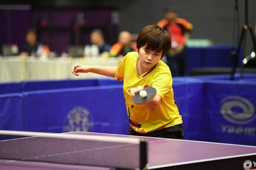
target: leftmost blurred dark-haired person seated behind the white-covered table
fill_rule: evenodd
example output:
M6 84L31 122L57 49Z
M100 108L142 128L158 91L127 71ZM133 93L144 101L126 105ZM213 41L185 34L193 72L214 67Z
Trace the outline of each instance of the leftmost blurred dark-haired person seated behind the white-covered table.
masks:
M47 49L48 52L50 51ZM20 53L20 56L22 57L28 57L28 56L40 56L40 53L43 53L44 46L37 41L37 35L35 29L28 29L26 33L26 44L24 45L22 52Z

